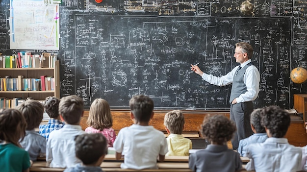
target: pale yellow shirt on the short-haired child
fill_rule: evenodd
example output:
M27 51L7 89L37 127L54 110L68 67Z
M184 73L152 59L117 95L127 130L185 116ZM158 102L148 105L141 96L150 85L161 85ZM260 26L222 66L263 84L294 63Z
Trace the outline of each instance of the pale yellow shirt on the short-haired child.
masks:
M188 156L189 149L192 149L191 140L182 137L181 134L170 134L166 141L168 147L166 156Z

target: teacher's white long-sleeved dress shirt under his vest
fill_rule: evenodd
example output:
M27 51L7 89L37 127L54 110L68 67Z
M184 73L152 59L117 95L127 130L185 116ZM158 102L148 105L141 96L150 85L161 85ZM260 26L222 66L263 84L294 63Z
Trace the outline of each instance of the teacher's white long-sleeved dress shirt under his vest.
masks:
M252 62L251 59L247 60L246 62L241 64L241 67L243 68L245 65ZM237 69L240 65L236 66L232 69L228 74L217 77L213 76L212 74L203 74L202 78L213 85L218 86L225 86L232 83L233 76L236 73ZM236 98L237 103L242 103L246 101L253 101L257 98L259 93L259 83L260 83L260 74L256 66L251 65L248 67L245 71L243 81L246 85L247 92L244 94L241 94L238 98Z

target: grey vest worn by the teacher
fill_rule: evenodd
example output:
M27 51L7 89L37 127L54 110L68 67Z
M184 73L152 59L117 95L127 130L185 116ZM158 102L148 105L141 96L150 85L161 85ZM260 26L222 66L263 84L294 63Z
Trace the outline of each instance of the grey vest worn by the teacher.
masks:
M247 92L246 85L244 84L243 78L244 78L246 69L252 65L254 65L252 62L245 65L239 71L237 70L236 74L233 76L230 99L229 99L230 103L232 102L234 98L238 98L241 94Z

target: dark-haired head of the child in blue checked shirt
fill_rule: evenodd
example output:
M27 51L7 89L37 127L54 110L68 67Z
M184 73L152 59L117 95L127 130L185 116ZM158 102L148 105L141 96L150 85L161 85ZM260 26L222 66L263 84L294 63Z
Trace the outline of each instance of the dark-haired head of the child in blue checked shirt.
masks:
M50 118L57 119L59 117L59 103L60 99L50 96L44 101L44 108Z

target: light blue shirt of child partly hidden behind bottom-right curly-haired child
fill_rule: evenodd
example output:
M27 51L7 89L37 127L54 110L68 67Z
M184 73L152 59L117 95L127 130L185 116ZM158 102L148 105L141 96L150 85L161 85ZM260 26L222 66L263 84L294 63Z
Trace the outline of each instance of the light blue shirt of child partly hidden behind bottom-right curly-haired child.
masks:
M240 140L238 153L240 153L241 156L246 156L246 147L253 143L263 143L267 138L268 136L266 133L255 133L248 138Z

